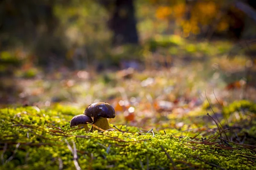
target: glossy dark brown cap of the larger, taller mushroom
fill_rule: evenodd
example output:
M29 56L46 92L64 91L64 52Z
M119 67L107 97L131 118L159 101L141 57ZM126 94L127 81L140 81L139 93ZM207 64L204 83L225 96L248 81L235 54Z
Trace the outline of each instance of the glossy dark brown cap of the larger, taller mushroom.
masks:
M106 102L90 104L85 109L84 114L94 118L104 117L112 119L116 117L114 108Z

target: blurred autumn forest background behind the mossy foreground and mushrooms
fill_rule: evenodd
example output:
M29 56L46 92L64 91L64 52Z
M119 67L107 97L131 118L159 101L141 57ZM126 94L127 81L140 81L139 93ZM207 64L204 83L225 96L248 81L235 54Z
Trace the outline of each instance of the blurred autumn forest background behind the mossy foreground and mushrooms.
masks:
M255 64L255 0L0 1L1 107L105 101L134 121L205 93L255 102Z

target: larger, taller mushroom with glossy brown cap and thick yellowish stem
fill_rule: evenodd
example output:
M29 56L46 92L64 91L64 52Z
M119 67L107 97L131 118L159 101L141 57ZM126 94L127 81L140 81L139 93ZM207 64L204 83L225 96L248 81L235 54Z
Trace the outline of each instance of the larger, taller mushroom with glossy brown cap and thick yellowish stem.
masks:
M103 130L109 129L108 119L112 119L116 116L114 108L106 102L90 104L85 109L84 114L93 117L93 124ZM93 130L99 129L93 127Z

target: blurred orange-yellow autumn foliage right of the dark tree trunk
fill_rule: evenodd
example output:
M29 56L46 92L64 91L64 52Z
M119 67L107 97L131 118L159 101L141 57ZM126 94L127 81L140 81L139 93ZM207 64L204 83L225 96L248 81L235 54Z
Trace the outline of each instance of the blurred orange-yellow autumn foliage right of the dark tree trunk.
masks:
M199 34L201 26L216 21L219 10L220 4L214 1L200 1L193 5L175 1L170 6L158 7L155 16L160 20L175 19L175 23L182 27L183 35L188 37L191 33ZM229 27L229 22L224 17L216 24L216 31L224 31Z

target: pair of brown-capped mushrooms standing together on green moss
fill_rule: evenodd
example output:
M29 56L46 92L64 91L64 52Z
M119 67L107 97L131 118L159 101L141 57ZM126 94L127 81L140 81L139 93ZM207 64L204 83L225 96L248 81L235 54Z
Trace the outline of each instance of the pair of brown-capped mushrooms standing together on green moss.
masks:
M77 126L84 127L86 131L89 131L87 122L102 128L103 130L109 129L108 119L114 118L114 108L106 102L93 103L87 106L84 114L74 116L70 121L70 127ZM93 119L92 119L93 118ZM93 130L99 130L93 127Z

